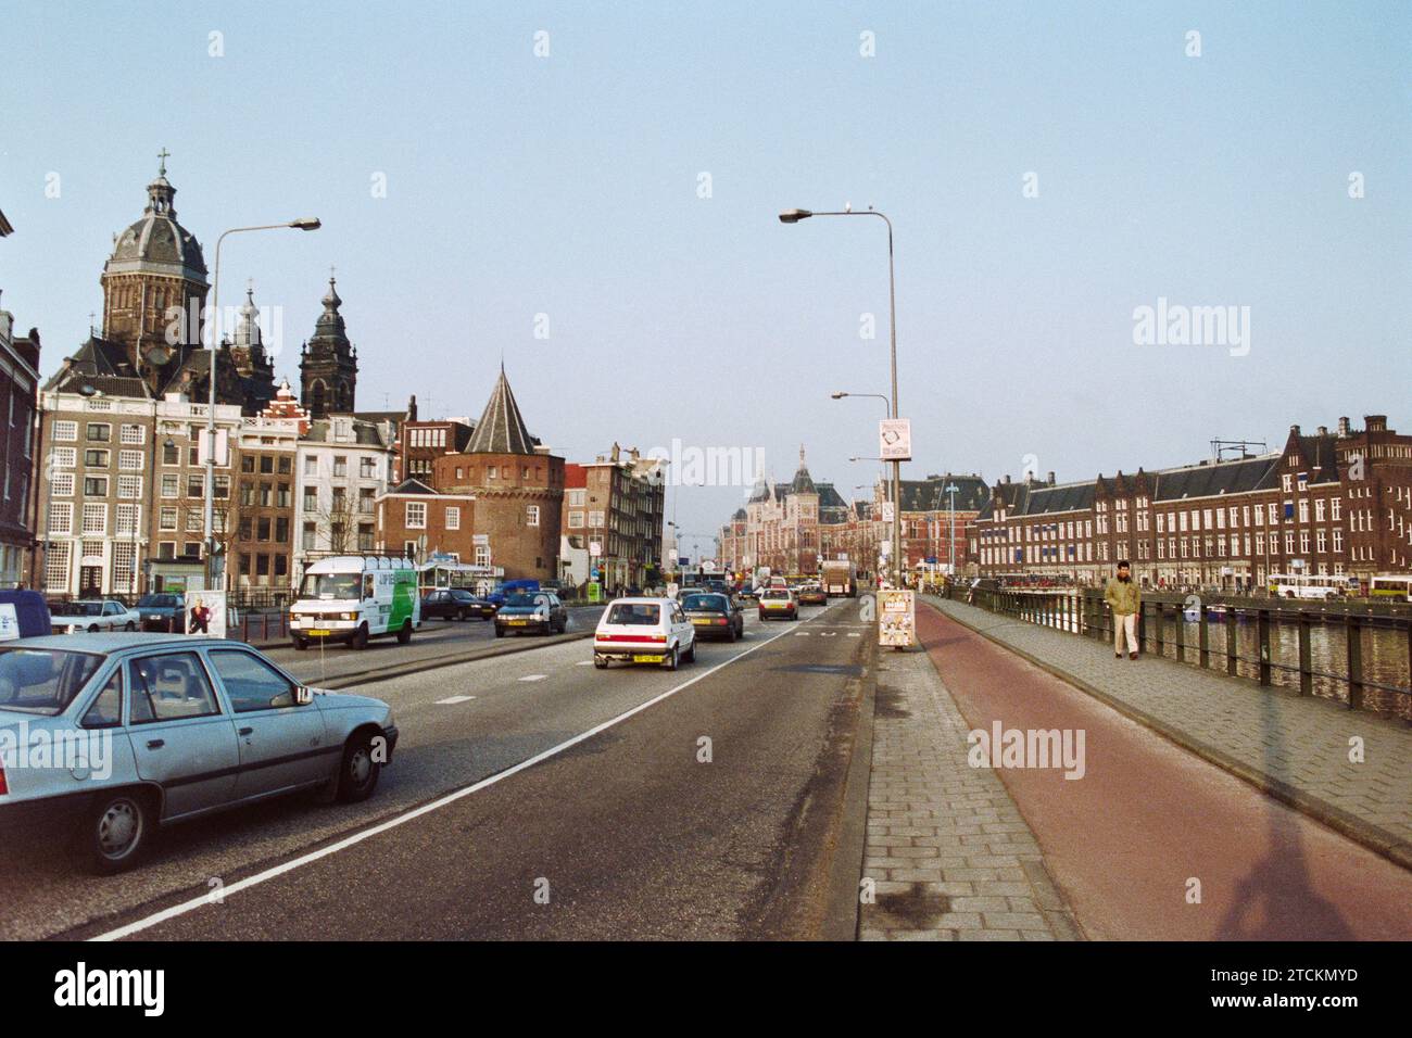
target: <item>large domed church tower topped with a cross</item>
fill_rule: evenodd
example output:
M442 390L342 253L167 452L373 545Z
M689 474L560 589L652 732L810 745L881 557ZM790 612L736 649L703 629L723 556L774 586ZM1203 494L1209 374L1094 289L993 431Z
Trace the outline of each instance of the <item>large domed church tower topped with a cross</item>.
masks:
M140 220L113 236L103 264L103 339L119 345L152 393L201 346L206 260L195 236L176 223L176 188L167 179L164 148L147 185Z

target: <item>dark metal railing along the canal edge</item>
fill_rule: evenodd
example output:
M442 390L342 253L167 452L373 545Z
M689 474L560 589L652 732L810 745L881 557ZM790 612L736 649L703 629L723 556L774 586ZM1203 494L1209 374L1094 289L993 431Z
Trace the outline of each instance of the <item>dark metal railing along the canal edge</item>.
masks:
M1113 643L1113 612L1099 587L970 589L952 585L945 597L970 602L991 613L1010 616L1041 627L1067 631L1080 637ZM1213 613L1217 616L1213 617ZM1196 637L1190 637L1195 624ZM1255 655L1241 652L1241 626L1254 626ZM1278 624L1289 624L1298 636L1298 661L1281 662L1271 651L1271 633ZM1343 634L1346 669L1339 674L1315 665L1315 630L1337 630ZM1370 675L1364 661L1364 634L1377 631L1380 637L1401 645L1396 675L1399 682L1388 682ZM1247 637L1247 641L1251 638ZM1368 692L1381 692L1372 709L1412 719L1412 613L1382 603L1360 602L1300 602L1268 597L1179 595L1172 592L1144 592L1138 612L1138 644L1144 651L1168 655L1179 662L1190 662L1206 669L1224 669L1227 675L1241 675L1241 664L1260 685L1288 685L1302 696L1315 695L1317 679L1339 689L1336 695L1353 710L1370 709ZM1275 681L1275 675L1288 676ZM1384 675L1385 676L1385 675ZM1381 709L1389 705L1391 709Z

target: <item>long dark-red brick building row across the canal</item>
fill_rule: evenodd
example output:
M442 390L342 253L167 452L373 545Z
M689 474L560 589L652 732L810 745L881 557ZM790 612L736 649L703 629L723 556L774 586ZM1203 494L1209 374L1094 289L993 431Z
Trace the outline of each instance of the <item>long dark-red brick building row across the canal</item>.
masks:
M974 523L984 576L1100 583L1118 559L1155 587L1262 587L1276 573L1405 572L1412 548L1412 436L1368 415L1354 432L1305 435L1282 451L1083 483L1007 480Z

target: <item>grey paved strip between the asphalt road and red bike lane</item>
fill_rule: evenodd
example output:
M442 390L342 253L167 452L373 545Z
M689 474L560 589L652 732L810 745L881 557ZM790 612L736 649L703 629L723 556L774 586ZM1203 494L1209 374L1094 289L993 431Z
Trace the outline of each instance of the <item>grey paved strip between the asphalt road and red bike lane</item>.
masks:
M970 726L926 652L878 657L863 941L1077 941L1000 778L966 761Z

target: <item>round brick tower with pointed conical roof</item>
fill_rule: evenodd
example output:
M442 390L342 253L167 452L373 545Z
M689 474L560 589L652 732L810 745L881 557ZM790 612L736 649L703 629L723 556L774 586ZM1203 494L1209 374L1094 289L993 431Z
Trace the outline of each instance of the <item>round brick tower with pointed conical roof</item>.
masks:
M466 449L432 462L435 486L476 499L474 532L504 576L559 576L563 459L537 446L504 367Z

